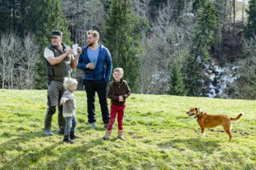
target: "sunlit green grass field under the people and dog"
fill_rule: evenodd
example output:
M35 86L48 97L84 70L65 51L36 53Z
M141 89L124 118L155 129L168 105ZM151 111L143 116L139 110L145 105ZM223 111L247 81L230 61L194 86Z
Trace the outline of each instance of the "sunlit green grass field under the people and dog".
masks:
M167 95L131 94L124 118L125 141L102 140L104 129L96 100L98 129L87 123L86 94L77 100L75 144L63 136L44 137L46 91L0 90L0 169L256 169L256 102ZM212 114L236 117L233 139L222 127L200 128L186 111L191 105ZM57 132L57 114L53 119Z

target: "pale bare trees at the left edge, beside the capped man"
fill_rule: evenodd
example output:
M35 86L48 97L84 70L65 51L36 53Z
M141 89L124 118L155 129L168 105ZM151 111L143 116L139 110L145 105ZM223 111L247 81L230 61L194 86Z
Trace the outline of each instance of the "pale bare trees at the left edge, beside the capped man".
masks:
M14 32L6 32L1 35L0 48L2 88L34 88L38 60L35 38L28 34L22 44Z

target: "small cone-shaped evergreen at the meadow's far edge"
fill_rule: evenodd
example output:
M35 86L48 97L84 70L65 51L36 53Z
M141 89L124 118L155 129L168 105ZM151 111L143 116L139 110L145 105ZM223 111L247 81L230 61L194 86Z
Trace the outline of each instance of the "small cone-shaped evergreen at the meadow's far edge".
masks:
M172 63L171 78L170 78L170 90L168 94L184 96L188 94L183 84L183 75L181 72L180 64L177 60Z

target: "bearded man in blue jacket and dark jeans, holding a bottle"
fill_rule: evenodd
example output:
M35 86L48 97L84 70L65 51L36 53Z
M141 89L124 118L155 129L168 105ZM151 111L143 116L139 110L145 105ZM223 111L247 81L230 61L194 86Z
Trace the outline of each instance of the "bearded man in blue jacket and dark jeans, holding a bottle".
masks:
M84 87L87 94L88 122L96 128L95 93L99 96L104 127L108 127L109 111L107 86L112 71L108 48L98 44L98 31L87 31L87 46L82 48L77 67L84 70ZM106 65L106 66L105 66Z

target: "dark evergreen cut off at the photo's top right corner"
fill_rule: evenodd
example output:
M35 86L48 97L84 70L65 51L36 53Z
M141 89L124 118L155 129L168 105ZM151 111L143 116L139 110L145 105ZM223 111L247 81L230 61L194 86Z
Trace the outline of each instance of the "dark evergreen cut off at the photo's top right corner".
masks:
M247 26L245 28L245 36L247 38L256 35L256 0L249 1L249 7L247 9Z

